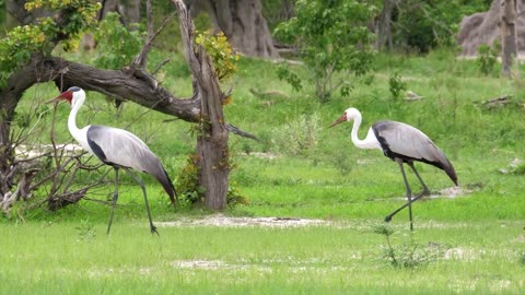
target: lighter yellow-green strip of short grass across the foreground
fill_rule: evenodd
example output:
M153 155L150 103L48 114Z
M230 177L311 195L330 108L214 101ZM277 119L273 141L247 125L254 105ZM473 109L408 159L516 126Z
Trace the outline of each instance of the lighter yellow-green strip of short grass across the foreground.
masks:
M162 227L131 223L110 236L74 222L1 225L3 294L416 294L518 293L518 223L422 224L418 239L448 247L416 269L382 258L383 238L362 222L303 228ZM404 233L402 231L400 233ZM31 243L27 237L31 237ZM490 237L490 238L489 238ZM395 234L394 243L406 239ZM232 243L234 241L234 243ZM13 278L24 278L23 284Z

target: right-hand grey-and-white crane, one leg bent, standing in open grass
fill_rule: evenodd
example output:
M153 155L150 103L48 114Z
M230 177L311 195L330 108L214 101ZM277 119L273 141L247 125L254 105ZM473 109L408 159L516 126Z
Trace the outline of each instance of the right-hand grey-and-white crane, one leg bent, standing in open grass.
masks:
M430 190L424 184L418 170L413 166L413 162L423 162L433 165L440 169L443 169L446 175L457 186L457 176L452 163L446 158L445 154L432 142L427 134L419 129L409 125L396 121L378 121L375 122L370 129L366 138L360 140L358 138L358 130L361 126L361 113L357 108L348 108L345 114L330 125L330 128L343 122L353 120L353 127L351 132L351 139L353 144L359 149L378 149L385 156L392 158L399 165L402 174L402 180L407 189L408 202L385 217L385 222L389 222L392 217L399 211L408 206L408 214L410 219L410 229L413 229L412 224L412 202L419 198L429 194ZM410 191L410 186L407 181L405 168L402 164L406 163L418 177L419 182L423 187L421 193L417 194L413 199Z

